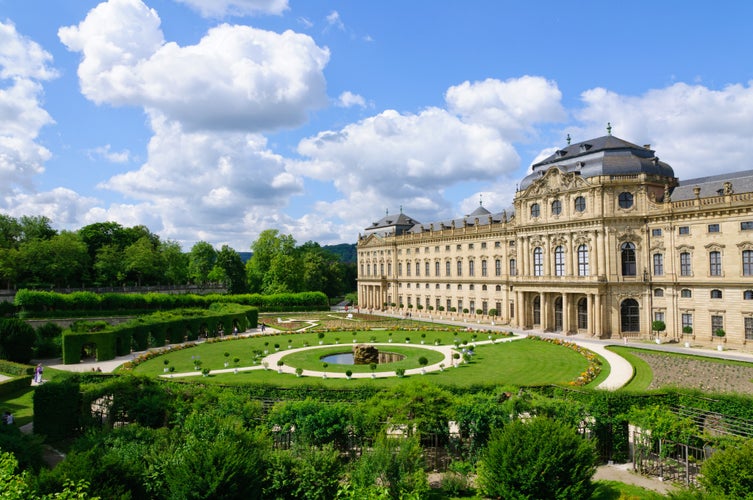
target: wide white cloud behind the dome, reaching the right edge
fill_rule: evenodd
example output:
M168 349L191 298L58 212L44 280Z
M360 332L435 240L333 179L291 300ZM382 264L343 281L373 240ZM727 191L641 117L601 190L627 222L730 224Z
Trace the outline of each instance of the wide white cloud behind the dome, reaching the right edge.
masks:
M751 83L721 90L676 83L640 96L595 88L581 97L585 107L577 117L584 126L574 129L573 140L605 135L611 122L613 135L651 144L681 180L751 168Z

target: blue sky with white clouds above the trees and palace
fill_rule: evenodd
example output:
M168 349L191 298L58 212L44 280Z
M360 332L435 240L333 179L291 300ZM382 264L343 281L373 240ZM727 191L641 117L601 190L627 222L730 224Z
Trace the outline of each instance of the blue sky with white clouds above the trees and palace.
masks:
M0 0L0 213L188 251L509 208L612 134L753 169L753 2Z

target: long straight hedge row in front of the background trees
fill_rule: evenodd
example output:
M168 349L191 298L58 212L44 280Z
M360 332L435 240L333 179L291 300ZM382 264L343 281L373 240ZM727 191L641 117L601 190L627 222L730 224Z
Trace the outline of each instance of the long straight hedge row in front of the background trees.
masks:
M327 296L321 292L280 293L275 295L195 295L169 293L105 293L74 292L70 294L35 290L19 290L16 308L26 317L49 316L51 312L86 311L155 311L179 308L207 308L215 303L235 303L257 307L262 311L316 311L329 308Z

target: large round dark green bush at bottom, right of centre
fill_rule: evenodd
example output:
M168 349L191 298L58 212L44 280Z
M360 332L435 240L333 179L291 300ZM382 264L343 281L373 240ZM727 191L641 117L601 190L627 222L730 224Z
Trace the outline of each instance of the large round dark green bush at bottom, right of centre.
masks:
M590 498L596 448L573 427L545 417L496 431L482 454L478 485L493 498Z

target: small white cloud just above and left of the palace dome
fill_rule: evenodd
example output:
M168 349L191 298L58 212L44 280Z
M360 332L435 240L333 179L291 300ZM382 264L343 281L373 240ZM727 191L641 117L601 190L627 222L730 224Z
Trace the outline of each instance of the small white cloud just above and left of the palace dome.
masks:
M466 81L450 87L445 99L465 121L494 127L508 140L535 136L536 124L567 117L557 84L537 76Z

